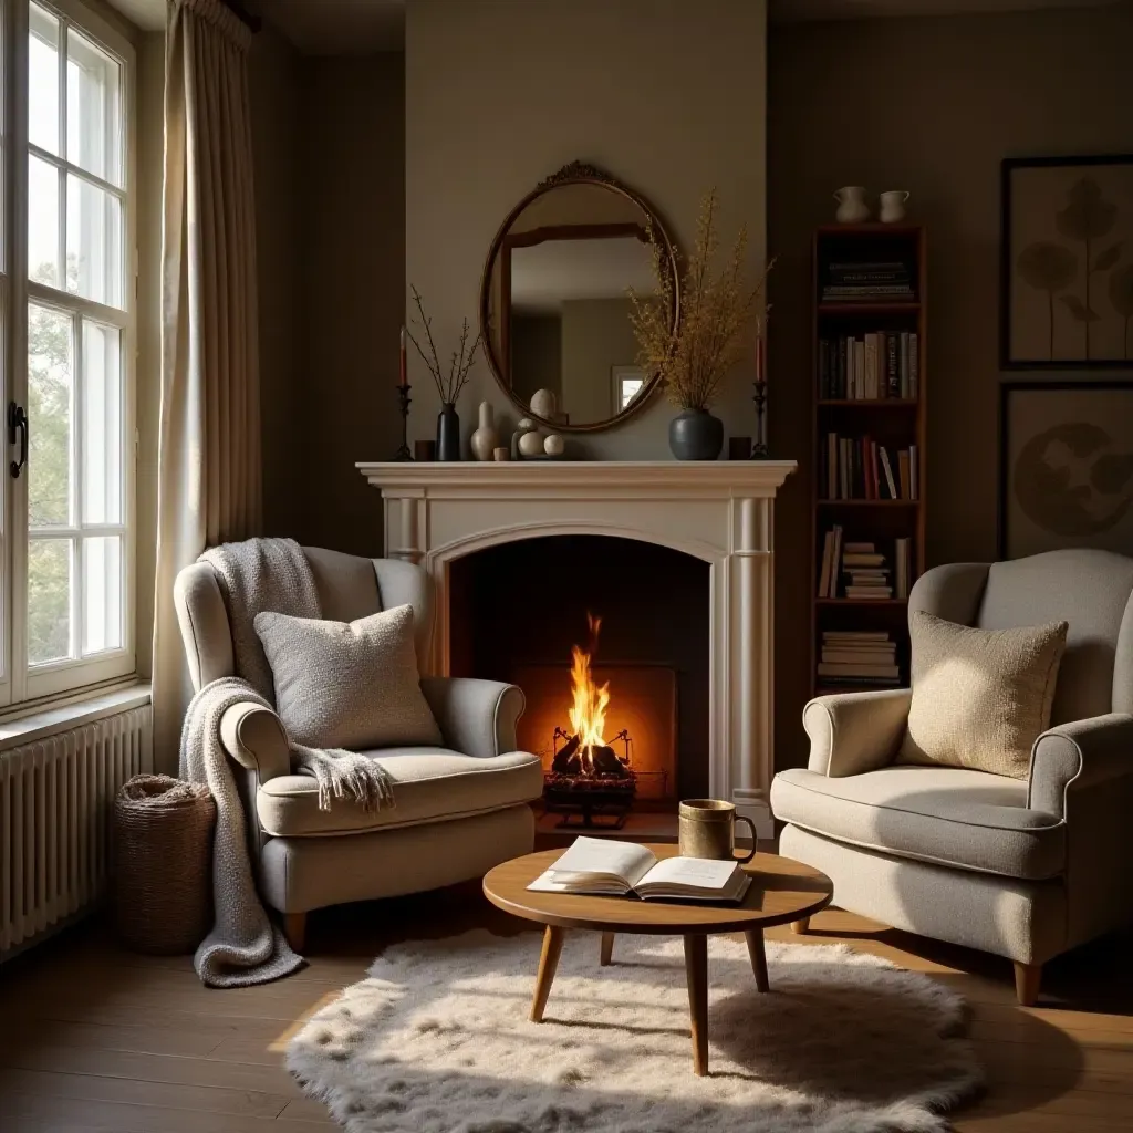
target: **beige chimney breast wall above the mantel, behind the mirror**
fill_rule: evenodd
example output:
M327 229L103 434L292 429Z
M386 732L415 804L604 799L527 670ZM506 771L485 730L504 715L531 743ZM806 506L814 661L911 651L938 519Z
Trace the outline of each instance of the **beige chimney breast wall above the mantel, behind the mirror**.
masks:
M576 157L642 193L681 244L715 185L724 230L747 221L750 266L760 265L764 49L763 0L409 0L406 279L424 296L442 353L461 318L476 318L500 222ZM436 392L417 359L410 373L414 435L432 436ZM748 376L724 412L750 434ZM460 406L466 434L482 398L516 420L480 361ZM598 458L667 457L673 412L657 398L579 445Z

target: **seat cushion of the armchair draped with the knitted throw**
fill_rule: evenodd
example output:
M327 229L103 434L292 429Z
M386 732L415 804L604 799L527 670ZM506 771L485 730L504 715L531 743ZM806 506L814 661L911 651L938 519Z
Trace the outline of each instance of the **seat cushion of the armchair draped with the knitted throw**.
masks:
M276 837L312 837L392 829L484 813L537 799L543 792L538 756L511 751L478 758L448 748L385 748L363 755L392 776L393 807L366 811L349 799L318 809L309 775L281 775L256 792L256 813Z

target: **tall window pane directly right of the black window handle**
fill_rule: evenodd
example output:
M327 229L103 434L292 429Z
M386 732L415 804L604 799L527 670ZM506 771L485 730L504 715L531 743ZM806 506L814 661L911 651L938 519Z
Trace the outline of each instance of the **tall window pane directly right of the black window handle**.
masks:
M74 374L70 315L28 304L27 519L33 528L70 522Z

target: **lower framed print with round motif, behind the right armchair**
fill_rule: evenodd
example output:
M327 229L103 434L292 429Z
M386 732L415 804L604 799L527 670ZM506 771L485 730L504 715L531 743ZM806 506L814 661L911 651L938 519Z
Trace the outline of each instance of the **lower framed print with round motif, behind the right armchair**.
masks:
M999 559L1133 554L1133 377L999 387Z

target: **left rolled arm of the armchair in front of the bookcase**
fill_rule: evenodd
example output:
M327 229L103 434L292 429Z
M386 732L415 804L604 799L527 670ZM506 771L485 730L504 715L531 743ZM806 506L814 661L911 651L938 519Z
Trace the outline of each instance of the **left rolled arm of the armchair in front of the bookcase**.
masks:
M802 709L810 770L829 778L861 775L893 761L909 721L911 689L816 697Z

